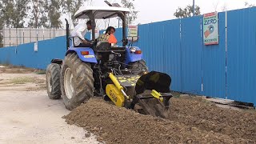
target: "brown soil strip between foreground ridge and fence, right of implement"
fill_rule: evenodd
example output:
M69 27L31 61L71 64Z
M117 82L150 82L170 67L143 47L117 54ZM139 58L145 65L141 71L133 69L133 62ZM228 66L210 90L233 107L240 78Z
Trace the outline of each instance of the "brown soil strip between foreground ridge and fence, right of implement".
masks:
M172 98L170 120L256 142L256 113L223 109L200 98Z

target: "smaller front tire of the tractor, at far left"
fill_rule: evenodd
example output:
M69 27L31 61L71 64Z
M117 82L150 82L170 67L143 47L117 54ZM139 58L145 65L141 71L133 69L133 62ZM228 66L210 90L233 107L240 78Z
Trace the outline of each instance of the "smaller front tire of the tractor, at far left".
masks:
M46 69L46 88L50 99L61 98L61 66L51 63Z

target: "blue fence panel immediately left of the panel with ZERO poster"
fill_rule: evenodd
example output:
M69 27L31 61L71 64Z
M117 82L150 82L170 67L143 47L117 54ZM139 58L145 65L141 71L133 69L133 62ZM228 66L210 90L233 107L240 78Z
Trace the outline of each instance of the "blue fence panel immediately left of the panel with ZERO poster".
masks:
M182 92L202 94L202 17L182 18Z

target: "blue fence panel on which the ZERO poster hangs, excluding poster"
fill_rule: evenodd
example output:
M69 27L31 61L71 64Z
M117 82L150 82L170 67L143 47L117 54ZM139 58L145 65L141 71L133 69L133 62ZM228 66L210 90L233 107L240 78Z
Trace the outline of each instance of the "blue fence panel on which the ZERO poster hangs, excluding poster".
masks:
M202 94L226 98L226 13L218 13L219 44L202 44ZM202 31L203 32L203 31Z

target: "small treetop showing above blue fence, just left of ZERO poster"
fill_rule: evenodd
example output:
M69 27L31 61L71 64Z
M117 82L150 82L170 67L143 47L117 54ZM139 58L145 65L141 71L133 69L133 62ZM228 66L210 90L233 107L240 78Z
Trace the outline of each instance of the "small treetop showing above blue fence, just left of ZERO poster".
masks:
M200 15L200 7L195 6L194 8L194 15ZM187 18L193 16L193 6L186 6L184 9L178 7L176 12L174 13L174 16L176 18Z

